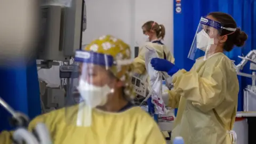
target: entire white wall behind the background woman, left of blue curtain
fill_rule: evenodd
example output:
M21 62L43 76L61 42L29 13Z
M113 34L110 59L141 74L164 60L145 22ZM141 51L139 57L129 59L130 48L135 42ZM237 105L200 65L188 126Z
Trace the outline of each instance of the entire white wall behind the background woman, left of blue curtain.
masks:
M131 47L143 40L141 26L149 20L166 28L164 43L173 51L173 0L85 0L87 29L83 44L110 34ZM137 43L136 43L137 42ZM133 52L132 48L132 52ZM134 55L134 54L133 54Z

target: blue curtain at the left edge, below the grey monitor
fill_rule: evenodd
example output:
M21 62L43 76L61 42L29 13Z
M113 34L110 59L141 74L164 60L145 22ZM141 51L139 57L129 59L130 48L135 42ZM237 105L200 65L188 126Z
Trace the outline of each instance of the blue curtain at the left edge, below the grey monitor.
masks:
M19 63L18 67L0 66L1 84L0 97L17 111L34 118L41 114L39 98L39 83L37 77L36 60L29 63ZM11 130L10 114L0 106L0 132Z

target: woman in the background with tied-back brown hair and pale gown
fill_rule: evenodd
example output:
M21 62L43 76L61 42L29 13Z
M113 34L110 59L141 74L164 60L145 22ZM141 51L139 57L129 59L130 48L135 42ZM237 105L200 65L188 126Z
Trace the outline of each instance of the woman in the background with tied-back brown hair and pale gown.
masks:
M134 73L145 74L145 53L148 51L146 46L153 47L159 58L166 59L174 63L174 57L170 50L162 43L165 36L164 25L158 25L155 21L148 21L142 26L143 34L147 37L147 42L139 49L138 57L134 59Z

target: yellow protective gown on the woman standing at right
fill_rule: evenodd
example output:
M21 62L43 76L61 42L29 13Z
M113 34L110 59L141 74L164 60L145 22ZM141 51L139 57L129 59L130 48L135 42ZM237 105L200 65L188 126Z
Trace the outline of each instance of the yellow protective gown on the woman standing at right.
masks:
M196 60L190 71L173 75L169 106L179 107L172 140L186 144L230 144L239 84L233 62L223 53Z

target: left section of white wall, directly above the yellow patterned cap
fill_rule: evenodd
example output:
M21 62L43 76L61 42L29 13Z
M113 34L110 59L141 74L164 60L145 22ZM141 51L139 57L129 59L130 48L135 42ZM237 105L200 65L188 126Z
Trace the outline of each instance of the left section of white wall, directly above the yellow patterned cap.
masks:
M130 0L132 1L132 0ZM85 0L87 29L83 44L89 44L101 35L111 34L131 42L131 7L129 0Z

